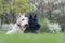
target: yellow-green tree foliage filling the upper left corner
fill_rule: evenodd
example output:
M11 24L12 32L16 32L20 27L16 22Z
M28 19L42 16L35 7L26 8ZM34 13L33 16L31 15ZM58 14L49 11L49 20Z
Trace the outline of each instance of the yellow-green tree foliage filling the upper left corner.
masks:
M29 8L27 3L28 0L11 0L10 3L4 3L3 0L0 0L0 15L3 15L10 9L17 12L25 12Z

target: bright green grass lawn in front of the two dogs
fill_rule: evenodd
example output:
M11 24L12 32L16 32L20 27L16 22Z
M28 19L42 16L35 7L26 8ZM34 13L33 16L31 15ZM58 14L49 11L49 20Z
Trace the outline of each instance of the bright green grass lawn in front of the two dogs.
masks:
M0 33L0 43L65 43L65 34L4 34Z

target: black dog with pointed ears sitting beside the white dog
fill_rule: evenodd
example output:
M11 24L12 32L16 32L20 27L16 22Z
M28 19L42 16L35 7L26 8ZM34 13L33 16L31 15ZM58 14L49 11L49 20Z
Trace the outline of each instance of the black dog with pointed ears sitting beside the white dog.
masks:
M31 32L31 33L37 33L37 30L40 29L40 24L38 23L38 19L36 18L36 15L30 15L29 16L29 27L25 30L25 32Z

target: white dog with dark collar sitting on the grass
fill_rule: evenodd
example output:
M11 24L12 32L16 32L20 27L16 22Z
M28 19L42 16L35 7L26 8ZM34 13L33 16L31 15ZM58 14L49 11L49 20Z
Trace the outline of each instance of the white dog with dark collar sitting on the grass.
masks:
M28 26L28 17L26 17L25 13L18 15L17 22L12 27L12 30L8 31L6 34L13 34L13 33L23 33Z

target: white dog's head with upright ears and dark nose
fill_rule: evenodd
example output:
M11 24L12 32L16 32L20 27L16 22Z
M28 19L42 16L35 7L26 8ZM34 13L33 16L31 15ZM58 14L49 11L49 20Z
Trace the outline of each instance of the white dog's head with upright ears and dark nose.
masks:
M23 14L18 14L18 17L17 17L17 24L21 25L21 27L27 27L28 26L28 17L26 16L26 13L23 13Z

